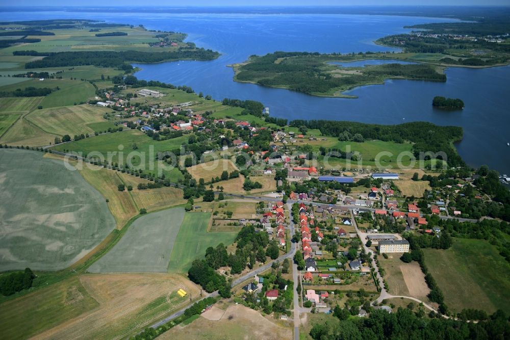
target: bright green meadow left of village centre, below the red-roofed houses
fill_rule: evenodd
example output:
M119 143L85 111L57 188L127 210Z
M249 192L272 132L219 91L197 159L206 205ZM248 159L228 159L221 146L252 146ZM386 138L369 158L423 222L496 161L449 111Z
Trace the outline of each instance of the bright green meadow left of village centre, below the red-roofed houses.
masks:
M91 152L99 152L105 157L105 159L108 159L107 157L109 152L116 152L111 156L114 163L119 162L119 151L122 151L122 163L125 163L127 159L132 159L133 165L137 167L142 163L142 156L145 155L143 168L145 173L157 174L158 169L161 169L162 173L165 174L167 178L175 181L182 178L182 174L178 169L171 168L170 165L166 163L163 164L162 162L153 161L156 158L157 152L179 149L181 144L186 143L187 140L188 136L185 135L168 140L156 141L138 130L127 130L57 145L55 150L82 152L83 155L88 155ZM138 148L136 150L133 149L135 144Z

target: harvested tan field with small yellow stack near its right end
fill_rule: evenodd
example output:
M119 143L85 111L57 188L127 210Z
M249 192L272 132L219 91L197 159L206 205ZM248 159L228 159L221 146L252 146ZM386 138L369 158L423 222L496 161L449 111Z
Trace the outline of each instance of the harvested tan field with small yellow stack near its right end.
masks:
M118 339L189 303L199 288L179 275L85 274L81 282L99 306L49 329L35 339ZM183 288L188 296L181 298Z

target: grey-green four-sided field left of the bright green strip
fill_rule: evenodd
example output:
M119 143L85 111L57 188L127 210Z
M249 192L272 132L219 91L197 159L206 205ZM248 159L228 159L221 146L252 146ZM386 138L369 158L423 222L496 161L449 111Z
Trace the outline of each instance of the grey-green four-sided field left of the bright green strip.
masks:
M92 264L90 273L165 273L184 208L153 212L138 218L118 244Z

